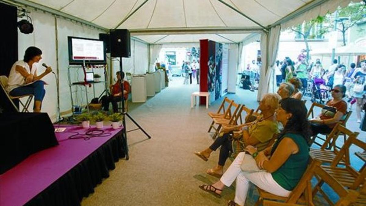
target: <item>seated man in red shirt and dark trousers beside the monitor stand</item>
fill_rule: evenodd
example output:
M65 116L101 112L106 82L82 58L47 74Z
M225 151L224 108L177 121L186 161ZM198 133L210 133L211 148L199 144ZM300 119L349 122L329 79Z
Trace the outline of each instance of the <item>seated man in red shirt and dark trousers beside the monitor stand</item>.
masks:
M128 99L128 93L130 92L130 84L128 84L128 81L124 80L124 72L122 72L122 75L119 71L116 73L117 76L117 82L115 84L112 84L109 86L109 89L111 89L111 95L109 95L107 98L105 98L102 101L102 106L104 111L109 111L109 102L112 103L113 107L113 113L118 112L118 105L117 102L121 101L121 89L120 89L120 82L123 80L123 96L124 100Z

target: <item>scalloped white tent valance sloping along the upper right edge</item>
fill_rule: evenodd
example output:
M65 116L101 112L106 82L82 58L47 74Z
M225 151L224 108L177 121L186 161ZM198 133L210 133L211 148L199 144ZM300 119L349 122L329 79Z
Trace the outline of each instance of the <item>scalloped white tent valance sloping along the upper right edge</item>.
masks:
M350 4L351 0L328 0L320 5L311 8L310 10L291 18L290 20L281 24L282 30L289 27L299 25L304 21L317 18L317 16L324 16L327 12L333 13L337 10L338 6L343 8Z

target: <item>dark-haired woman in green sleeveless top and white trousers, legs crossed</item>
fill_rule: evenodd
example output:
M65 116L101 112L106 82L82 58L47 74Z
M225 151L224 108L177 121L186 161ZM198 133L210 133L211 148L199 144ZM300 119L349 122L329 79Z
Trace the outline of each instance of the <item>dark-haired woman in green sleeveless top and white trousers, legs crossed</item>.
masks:
M307 110L301 100L281 100L276 118L284 125L284 130L273 146L261 152L247 146L247 154L240 152L219 181L213 185L200 185L199 188L220 196L225 185L229 187L236 179L235 202L230 201L230 206L244 205L250 182L277 196L290 195L309 162L310 126L306 115ZM242 164L250 162L251 157L244 158L246 155L254 158L253 164L258 166L256 172L241 169Z

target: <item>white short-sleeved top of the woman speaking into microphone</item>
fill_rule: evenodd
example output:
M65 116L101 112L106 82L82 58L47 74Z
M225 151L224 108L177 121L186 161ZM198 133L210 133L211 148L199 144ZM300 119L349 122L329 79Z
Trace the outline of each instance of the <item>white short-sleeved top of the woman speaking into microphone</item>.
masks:
M20 60L18 62L15 62L14 65L11 67L9 78L8 78L8 86L6 88L7 92L12 91L13 89L17 87L21 87L25 84L25 78L20 74L18 71L16 71L15 67L16 65L19 65L29 73L29 74L35 74L37 71L37 67L35 64L32 65L32 70L30 70L29 65L23 61Z

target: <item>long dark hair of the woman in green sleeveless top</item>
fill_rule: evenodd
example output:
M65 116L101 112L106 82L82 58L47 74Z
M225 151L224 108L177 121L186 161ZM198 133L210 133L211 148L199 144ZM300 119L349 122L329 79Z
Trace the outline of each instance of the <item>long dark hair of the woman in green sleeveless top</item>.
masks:
M280 137L286 133L296 133L302 135L305 140L310 143L310 123L307 121L307 109L305 104L294 98L284 98L280 100L280 107L287 113L291 113L291 118L288 119L284 126Z

